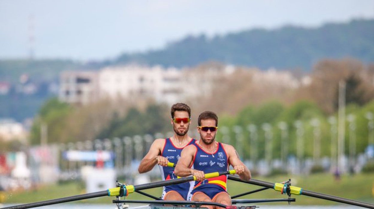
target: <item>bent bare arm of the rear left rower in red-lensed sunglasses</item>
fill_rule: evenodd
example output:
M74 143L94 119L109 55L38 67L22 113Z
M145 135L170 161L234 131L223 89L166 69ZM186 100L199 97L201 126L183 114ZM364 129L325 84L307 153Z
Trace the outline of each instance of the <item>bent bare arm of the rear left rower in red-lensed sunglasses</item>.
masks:
M161 166L166 166L169 162L165 157L160 156L163 146L165 144L165 139L156 139L149 148L148 153L141 160L138 167L139 173L145 173L150 171L156 164Z

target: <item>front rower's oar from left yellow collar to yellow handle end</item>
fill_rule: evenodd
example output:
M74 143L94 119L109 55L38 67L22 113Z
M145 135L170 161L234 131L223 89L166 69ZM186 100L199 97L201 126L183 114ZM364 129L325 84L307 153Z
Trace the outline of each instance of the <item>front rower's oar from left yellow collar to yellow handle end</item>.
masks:
M235 174L235 170L227 170L223 172L213 172L213 173L206 173L204 178L213 178L221 175L227 174ZM134 191L138 190L145 190L154 187L163 187L172 184L180 184L188 181L196 181L196 176L187 176L187 177L180 177L176 179L170 179L167 181L157 181L148 184L140 184L140 185L122 185L121 187L110 188L108 189L108 196L128 196L129 193L133 193Z

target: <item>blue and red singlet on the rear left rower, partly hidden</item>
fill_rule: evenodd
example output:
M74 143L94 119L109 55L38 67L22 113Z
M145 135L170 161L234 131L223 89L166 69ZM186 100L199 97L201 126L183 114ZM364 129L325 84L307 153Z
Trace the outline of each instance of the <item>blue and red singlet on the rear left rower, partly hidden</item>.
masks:
M191 141L188 142L187 145L195 144L195 142L196 142L196 139L191 139ZM178 160L181 157L181 152L183 148L184 147L182 148L175 147L171 139L167 138L165 139L165 145L164 145L164 148L162 149L161 156L166 157L169 160L169 162L174 163L175 165L177 164ZM177 178L177 176L174 174L174 167L164 167L164 166L159 166L159 167L160 167L163 181ZM181 196L185 200L187 200L187 195L191 192L192 188L193 188L193 181L165 186L163 187L161 198L164 199L166 193L168 193L169 191L177 191L179 194L181 194Z

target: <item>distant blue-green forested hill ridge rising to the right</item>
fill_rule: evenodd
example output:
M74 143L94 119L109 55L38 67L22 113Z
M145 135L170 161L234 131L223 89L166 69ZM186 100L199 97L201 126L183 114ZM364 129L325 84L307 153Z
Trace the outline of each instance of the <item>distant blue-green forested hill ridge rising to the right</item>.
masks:
M145 53L124 53L113 64L138 62L165 67L195 66L206 61L267 69L309 71L322 58L353 57L374 62L374 19L329 23L318 28L285 26L253 29L208 39L205 35Z

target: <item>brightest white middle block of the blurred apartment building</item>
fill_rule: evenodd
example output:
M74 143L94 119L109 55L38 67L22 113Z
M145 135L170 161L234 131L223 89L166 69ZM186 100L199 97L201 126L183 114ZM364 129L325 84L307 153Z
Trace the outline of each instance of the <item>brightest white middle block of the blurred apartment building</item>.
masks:
M184 96L182 73L176 68L127 65L107 67L99 72L100 98L154 98L168 104Z

